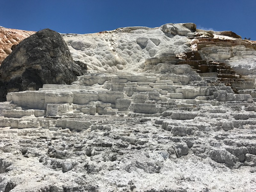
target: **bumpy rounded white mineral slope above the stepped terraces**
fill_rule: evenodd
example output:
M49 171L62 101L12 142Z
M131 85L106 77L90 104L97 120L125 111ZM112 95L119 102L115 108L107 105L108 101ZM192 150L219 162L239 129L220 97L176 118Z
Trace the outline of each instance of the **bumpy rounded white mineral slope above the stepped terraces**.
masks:
M165 24L159 28L126 27L95 34L63 35L75 60L89 71L141 71L145 59L164 52L189 52L186 36L195 24Z

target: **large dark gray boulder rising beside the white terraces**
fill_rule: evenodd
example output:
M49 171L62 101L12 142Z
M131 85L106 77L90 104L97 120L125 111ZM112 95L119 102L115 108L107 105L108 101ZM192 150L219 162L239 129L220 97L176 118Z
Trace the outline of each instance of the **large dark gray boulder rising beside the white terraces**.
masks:
M21 41L0 66L0 100L7 92L38 90L43 84L71 84L85 74L59 33L43 29Z

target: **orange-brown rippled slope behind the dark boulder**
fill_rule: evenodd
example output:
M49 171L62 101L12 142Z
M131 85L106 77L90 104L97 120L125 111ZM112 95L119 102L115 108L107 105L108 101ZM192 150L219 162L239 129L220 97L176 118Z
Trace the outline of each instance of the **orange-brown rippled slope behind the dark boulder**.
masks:
M0 27L0 65L12 52L11 48L14 44L19 44L34 33L36 32Z

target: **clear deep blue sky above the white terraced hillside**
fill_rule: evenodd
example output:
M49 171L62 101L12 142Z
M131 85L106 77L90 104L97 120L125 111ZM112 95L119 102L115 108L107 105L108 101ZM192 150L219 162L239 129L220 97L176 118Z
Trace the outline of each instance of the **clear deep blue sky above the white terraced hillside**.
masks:
M0 26L60 33L193 22L256 40L256 0L1 0Z

